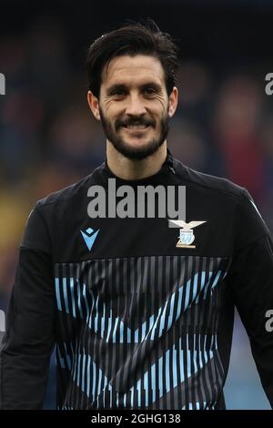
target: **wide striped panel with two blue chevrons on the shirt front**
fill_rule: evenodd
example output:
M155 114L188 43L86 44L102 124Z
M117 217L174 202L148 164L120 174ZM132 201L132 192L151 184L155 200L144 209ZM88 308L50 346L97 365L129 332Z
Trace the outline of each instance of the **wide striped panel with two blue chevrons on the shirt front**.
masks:
M228 266L201 256L57 263L60 408L213 409Z

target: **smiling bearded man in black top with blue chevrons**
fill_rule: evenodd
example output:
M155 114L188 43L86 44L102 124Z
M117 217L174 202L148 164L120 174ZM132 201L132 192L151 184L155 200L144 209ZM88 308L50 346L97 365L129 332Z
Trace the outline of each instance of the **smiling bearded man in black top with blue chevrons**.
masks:
M42 407L56 343L60 409L224 409L235 305L273 405L272 239L247 189L167 149L176 69L177 48L157 27L126 25L90 46L87 100L106 162L39 200L27 221L1 352L2 408ZM132 213L141 187L186 188L186 217L141 207L118 216L111 179L119 201L136 191L119 212Z

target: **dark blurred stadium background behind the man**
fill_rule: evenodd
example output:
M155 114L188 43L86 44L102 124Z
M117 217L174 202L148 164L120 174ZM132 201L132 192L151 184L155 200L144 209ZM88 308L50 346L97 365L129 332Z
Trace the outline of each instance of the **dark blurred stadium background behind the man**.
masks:
M154 19L181 48L179 106L167 138L175 157L246 187L273 229L273 0L1 0L0 310L35 200L88 175L105 138L87 107L86 50L126 19ZM54 408L54 356L45 408ZM236 319L227 409L269 409Z

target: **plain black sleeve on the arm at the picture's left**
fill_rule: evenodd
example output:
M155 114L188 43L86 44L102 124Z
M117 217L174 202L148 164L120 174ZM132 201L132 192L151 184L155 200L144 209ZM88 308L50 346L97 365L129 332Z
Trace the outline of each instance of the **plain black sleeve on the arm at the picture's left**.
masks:
M49 239L38 205L19 249L0 352L0 408L41 409L55 343L56 303Z

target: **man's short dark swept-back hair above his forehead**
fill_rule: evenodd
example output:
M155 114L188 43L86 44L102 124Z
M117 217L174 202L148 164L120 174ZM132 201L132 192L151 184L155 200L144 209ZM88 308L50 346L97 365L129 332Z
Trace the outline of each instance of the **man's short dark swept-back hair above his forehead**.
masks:
M101 75L104 66L116 56L155 56L165 71L165 83L169 96L176 85L178 67L178 46L167 33L162 33L157 24L147 20L147 24L133 23L106 33L89 47L86 70L90 91L99 98Z

